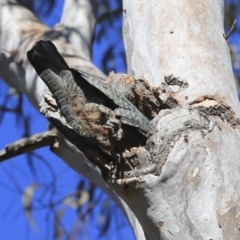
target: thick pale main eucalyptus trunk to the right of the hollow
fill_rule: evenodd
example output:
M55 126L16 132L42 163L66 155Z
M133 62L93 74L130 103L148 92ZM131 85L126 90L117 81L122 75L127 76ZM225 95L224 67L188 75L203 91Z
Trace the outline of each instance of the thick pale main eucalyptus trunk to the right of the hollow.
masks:
M128 73L160 87L169 107L152 120L155 174L121 196L147 239L238 239L240 108L223 1L123 8Z

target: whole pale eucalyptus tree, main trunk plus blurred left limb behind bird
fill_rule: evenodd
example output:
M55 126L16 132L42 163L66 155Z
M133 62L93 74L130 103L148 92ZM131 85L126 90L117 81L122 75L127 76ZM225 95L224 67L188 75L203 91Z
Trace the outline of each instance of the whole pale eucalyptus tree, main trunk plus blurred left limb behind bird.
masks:
M45 91L26 59L35 41L52 40L71 67L105 78L90 62L96 3L66 1L61 22L50 29L0 0L0 74L35 107ZM238 239L240 110L223 1L131 0L123 15L128 74L145 79L161 105L148 154L139 154L140 166L104 181L62 136L55 153L117 203L137 239Z

